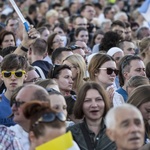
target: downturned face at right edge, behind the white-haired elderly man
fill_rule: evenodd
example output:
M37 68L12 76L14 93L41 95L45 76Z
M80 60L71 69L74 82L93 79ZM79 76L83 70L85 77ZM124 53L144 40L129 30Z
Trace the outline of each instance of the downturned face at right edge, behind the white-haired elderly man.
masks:
M150 102L143 103L139 107L139 110L141 111L144 120L146 120L150 125Z

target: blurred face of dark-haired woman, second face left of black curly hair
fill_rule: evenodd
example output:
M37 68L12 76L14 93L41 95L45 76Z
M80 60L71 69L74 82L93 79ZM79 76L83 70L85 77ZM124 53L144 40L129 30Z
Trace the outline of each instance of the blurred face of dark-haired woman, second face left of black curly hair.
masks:
M76 36L76 40L83 41L87 44L89 40L88 32L84 30L80 31L79 34Z

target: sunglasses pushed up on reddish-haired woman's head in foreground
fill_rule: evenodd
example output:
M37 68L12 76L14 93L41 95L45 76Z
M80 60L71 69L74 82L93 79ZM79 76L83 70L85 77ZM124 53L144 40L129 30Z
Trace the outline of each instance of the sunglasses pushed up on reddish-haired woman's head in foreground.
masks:
M42 123L48 123L48 122L53 122L55 119L58 119L62 122L65 122L66 121L66 116L64 115L64 113L62 112L58 112L58 113L53 113L53 112L50 112L50 113L46 113L44 114L42 117L40 117L34 125L37 125L39 124L40 122ZM33 126L34 126L33 125Z

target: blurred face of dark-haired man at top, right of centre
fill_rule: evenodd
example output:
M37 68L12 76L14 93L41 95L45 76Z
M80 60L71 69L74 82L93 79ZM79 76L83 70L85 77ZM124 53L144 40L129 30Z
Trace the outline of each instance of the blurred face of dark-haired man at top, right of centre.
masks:
M81 14L90 22L95 16L95 10L92 6L86 6L85 10Z

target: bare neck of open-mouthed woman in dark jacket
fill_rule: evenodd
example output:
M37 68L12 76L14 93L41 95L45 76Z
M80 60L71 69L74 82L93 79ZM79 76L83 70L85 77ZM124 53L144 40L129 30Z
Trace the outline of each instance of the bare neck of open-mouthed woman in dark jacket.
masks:
M102 122L102 118L98 119L96 121L86 119L86 123L87 123L88 128L91 131L93 131L95 133L95 135L97 135L100 131L101 122Z

